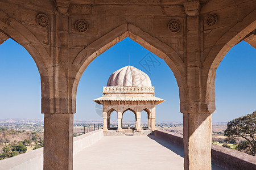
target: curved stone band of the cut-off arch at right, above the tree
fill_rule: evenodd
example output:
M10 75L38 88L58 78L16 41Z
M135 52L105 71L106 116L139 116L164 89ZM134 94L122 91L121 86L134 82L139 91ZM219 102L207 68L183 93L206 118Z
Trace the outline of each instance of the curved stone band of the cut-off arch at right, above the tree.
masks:
M251 12L242 22L237 23L229 29L210 50L203 63L204 74L207 75L204 81L207 83L207 93L209 100L215 101L215 78L216 70L226 53L236 44L244 39L246 35L256 29L256 10Z

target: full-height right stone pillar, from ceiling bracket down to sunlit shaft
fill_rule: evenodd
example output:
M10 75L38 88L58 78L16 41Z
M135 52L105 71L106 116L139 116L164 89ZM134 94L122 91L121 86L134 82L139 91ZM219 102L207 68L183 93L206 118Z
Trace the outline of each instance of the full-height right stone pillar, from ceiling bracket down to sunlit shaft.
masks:
M203 19L200 1L184 1L186 16L185 71L180 91L183 113L184 169L211 169L212 114L215 111L214 86L210 85L204 63ZM180 88L181 89L181 88Z

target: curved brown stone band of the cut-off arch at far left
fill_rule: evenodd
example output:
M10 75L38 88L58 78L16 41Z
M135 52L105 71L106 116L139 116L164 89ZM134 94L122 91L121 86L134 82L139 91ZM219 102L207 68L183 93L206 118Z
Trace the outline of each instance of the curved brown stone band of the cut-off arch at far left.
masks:
M0 10L0 32L22 45L34 59L41 77L42 103L44 103L42 104L42 113L51 112L49 105L52 104L52 101L49 99L53 96L53 90L51 90L53 84L50 78L53 66L49 52L28 28L18 20L11 18L3 10Z

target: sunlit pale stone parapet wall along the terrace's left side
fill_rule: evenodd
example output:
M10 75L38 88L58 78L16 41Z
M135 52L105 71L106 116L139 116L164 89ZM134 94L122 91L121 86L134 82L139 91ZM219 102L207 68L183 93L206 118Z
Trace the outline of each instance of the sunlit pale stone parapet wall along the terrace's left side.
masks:
M93 145L103 137L103 131L96 130L74 138L73 155ZM43 148L0 161L0 170L43 170Z

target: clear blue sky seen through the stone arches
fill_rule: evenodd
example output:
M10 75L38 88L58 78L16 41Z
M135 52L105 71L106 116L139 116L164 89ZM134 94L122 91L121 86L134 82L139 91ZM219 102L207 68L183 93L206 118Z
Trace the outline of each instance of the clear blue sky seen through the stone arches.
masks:
M0 45L0 115L1 118L43 118L40 100L40 76L26 49L9 39ZM75 119L101 120L92 100L102 96L109 76L123 66L137 67L150 76L156 96L166 100L156 107L156 121L182 121L179 91L170 68L152 54L158 63L143 68L140 61L148 50L126 38L94 59L86 68L77 89ZM256 49L246 42L234 46L222 60L216 74L216 112L213 122L226 122L256 110ZM113 117L116 114L113 114ZM146 121L146 113L142 121ZM114 119L113 119L114 120ZM124 114L133 121L134 114Z

